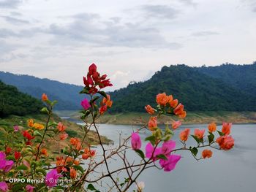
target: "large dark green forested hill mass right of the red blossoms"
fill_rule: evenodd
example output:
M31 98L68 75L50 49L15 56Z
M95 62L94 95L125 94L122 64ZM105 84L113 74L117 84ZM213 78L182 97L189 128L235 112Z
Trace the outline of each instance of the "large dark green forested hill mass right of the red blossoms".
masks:
M256 111L256 73L252 70L255 64L234 66L242 71L234 76L232 66L209 69L164 66L150 80L132 83L110 93L114 101L111 112L143 112L146 104L156 104L155 97L162 92L173 94L189 111ZM224 72L218 74L222 68ZM211 72L211 69L216 71ZM243 70L246 77L242 75Z

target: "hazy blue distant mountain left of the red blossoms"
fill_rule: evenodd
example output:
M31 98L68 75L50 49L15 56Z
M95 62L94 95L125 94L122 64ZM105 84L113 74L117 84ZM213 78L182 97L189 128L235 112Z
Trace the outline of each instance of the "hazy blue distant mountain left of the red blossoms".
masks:
M28 93L37 99L41 99L42 93L46 93L51 100L58 100L56 110L78 110L80 101L84 95L79 92L82 86L58 82L56 80L40 79L37 77L0 72L0 80L9 85L15 85L19 91Z

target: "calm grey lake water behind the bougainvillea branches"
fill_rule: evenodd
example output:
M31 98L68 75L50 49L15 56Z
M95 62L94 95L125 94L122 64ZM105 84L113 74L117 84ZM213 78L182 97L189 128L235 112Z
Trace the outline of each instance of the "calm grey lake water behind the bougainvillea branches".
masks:
M136 128L139 126L99 125L99 132L118 143L118 133L121 132L123 137L127 137L132 133L132 129ZM178 134L184 128L191 128L190 133L193 133L194 128L207 128L207 125L185 125L178 128L173 137L178 146ZM182 151L177 154L181 154L183 158L172 172L164 172L155 168L147 169L138 179L145 183L144 191L256 191L256 124L236 124L233 125L231 131L235 139L235 146L232 150L222 151L211 148L212 158L201 161L196 161L189 152ZM149 135L149 131L143 131L140 134L142 139ZM145 145L146 142L143 142L143 151L145 151ZM189 145L195 145L192 137L189 137L187 142L187 146ZM98 153L100 153L99 148ZM134 151L128 155L129 158L139 159ZM111 169L121 166L118 160L111 160L109 164Z

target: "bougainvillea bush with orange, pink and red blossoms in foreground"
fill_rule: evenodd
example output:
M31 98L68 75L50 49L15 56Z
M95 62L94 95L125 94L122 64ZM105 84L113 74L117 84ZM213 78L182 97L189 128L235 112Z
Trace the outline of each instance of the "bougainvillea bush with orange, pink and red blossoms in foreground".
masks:
M209 149L198 155L200 148L230 150L234 145L234 139L230 136L232 123L223 123L221 131L217 131L215 123L211 123L208 125L207 137L206 130L196 128L194 134L190 134L189 128L185 128L179 134L183 146L176 148L172 137L181 126L181 120L173 121L165 130L159 128L157 120L161 115L186 118L187 112L184 105L178 103L178 99L159 93L156 98L157 106L145 107L151 117L144 126L127 138L120 137L116 147L105 146L96 121L113 105L110 95L102 91L112 84L106 74L100 75L97 72L95 64L89 66L83 82L85 87L80 93L86 94L86 97L80 103L83 107L80 118L84 122L81 139L70 137L63 123L51 120L56 101L50 101L45 93L42 94L42 101L45 103L42 112L48 115L45 124L29 119L28 127L23 131L19 126L4 127L5 139L0 142L0 191L100 191L102 188L108 188L108 191L127 191L135 186L140 192L144 188L144 184L138 182L140 174L152 167L165 172L172 171L178 161L181 161L181 155L177 154L179 150L187 150L196 160L200 160L212 155ZM97 150L93 150L90 143L86 142L92 128L97 132L99 140ZM145 129L151 134L146 137L147 144L143 149L140 131ZM215 131L219 134L217 139ZM195 146L187 147L189 136L195 139ZM69 139L69 145L63 147L54 158L47 149L50 139ZM130 150L138 154L137 160L129 161L127 151ZM118 158L121 166L113 169L110 166L112 158ZM124 179L120 179L118 175Z

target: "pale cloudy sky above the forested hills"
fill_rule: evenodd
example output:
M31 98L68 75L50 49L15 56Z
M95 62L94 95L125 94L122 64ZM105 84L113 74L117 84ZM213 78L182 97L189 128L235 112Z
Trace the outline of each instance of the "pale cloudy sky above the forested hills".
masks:
M113 87L162 66L256 61L256 0L0 0L0 71Z

